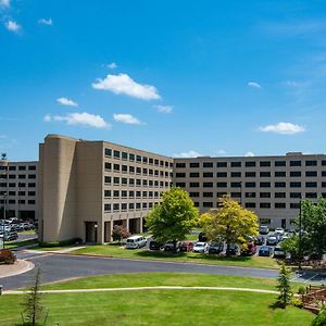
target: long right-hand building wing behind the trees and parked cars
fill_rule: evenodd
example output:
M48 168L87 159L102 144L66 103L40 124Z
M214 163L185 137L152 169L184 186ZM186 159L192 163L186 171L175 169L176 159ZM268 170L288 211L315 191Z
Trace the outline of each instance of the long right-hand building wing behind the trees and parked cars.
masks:
M224 195L254 211L260 224L290 228L300 199L326 197L326 155L195 158L174 160L175 186L204 212Z

